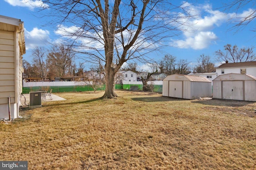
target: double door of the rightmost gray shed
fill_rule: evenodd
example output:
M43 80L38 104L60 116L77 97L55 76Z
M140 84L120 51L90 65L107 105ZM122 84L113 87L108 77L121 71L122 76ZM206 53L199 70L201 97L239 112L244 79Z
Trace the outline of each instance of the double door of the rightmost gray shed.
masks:
M232 100L243 100L242 81L223 81L223 98Z

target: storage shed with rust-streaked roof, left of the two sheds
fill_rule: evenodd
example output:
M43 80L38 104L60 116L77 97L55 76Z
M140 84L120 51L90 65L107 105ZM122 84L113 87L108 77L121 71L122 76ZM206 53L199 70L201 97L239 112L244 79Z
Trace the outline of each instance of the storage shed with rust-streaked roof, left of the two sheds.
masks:
M212 84L205 77L173 74L164 78L162 96L184 99L212 97Z

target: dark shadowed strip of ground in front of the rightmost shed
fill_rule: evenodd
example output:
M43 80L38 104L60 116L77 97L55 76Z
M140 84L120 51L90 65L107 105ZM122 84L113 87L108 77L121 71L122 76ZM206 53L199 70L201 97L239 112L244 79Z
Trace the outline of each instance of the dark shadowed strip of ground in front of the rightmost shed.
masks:
M211 99L211 100L194 100L191 103L204 104L210 106L228 106L228 107L240 107L248 104L254 104L255 102L241 101L241 100L225 100L225 99Z

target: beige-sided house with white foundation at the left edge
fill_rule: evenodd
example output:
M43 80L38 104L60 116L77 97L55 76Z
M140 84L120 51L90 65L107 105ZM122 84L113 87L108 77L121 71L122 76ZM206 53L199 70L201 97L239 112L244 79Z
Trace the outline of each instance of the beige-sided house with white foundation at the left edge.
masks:
M11 119L20 117L22 55L25 53L24 23L0 16L0 119L9 119L9 111Z

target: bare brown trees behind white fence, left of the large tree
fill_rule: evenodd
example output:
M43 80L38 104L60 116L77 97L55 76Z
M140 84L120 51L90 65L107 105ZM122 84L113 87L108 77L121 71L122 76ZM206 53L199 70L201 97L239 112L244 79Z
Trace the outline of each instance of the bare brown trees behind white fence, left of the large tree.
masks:
M50 49L36 47L32 50L32 64L23 60L24 74L39 76L42 81L54 80L55 77L82 76L83 63L76 66L75 53L65 45L54 45Z

